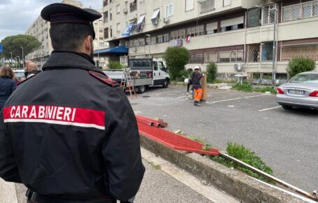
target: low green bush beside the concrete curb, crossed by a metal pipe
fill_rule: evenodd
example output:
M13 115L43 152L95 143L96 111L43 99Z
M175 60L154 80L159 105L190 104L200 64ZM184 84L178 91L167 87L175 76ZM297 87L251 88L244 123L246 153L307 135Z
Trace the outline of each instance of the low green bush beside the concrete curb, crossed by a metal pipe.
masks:
M237 158L238 160L241 160L242 162L247 163L248 165L251 165L252 167L255 167L256 169L260 169L261 171L265 172L266 174L272 174L272 169L265 165L265 163L255 155L255 152L249 150L248 148L245 148L242 145L239 144L233 144L231 142L228 142L226 146L226 152L228 155L232 156L233 158ZM222 157L216 157L211 156L211 160L214 160L216 162L221 163L222 165L225 165L226 167L233 167L235 169L239 169L242 172L245 172L249 174L250 176L259 179L261 181L265 181L268 183L274 184L274 181L268 180L265 177L258 175L251 170L247 169L246 167L241 167L240 165L237 165L235 162L226 160L226 158Z

